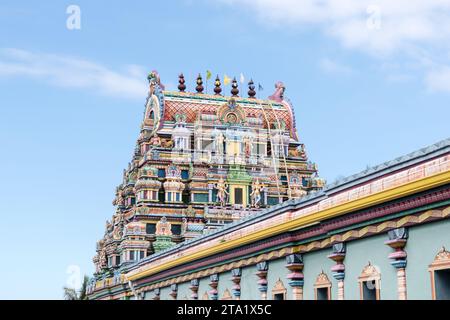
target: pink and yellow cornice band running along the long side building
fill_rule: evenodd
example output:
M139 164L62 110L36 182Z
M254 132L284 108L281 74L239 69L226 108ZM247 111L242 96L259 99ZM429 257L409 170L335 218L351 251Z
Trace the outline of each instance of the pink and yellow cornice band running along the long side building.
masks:
M330 198L320 197L320 202L309 200L287 201L269 212L230 224L217 232L175 247L171 251L152 256L133 267L127 275L130 280L145 277L164 269L198 260L218 252L229 251L277 234L299 229L320 221L343 216L382 203L430 190L450 182L450 163L446 158L420 164L414 171L395 172L393 176L372 181ZM264 217L262 220L259 217ZM254 221L257 220L257 221ZM253 222L253 223L252 223ZM174 254L175 257L174 258Z

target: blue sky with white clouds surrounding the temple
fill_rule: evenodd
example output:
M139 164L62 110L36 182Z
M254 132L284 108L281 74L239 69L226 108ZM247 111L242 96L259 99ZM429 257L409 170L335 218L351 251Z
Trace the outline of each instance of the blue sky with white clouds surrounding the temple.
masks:
M207 69L242 72L262 96L283 81L332 182L449 136L449 13L449 1L3 0L0 298L60 299L70 266L93 272L148 71L169 89L184 72L189 90Z

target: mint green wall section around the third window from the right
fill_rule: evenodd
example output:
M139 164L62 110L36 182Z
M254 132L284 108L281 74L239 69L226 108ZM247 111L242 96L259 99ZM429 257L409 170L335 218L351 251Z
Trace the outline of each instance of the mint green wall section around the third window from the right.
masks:
M328 279L331 281L331 299L334 300L337 298L337 282L332 277L330 270L335 262L327 258L331 252L331 248L327 248L303 254L303 275L305 277L303 299L314 300L314 283L322 270L327 274Z

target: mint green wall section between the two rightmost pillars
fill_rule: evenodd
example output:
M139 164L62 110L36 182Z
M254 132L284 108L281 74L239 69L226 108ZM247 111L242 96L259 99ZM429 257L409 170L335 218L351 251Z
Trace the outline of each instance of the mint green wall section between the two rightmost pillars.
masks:
M347 243L347 255L344 260L346 300L360 299L358 277L369 261L378 267L381 273L380 299L397 299L397 272L388 258L392 249L384 244L387 239L387 233L383 233Z

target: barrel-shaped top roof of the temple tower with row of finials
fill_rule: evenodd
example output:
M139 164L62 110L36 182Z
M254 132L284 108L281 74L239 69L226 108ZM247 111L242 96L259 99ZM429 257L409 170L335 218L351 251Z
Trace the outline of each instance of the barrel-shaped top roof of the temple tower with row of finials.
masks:
M295 117L293 106L289 100L284 98L284 85L282 82L275 84L275 92L267 99L255 98L254 84L249 82L248 97L239 96L238 85L233 80L230 95L222 95L220 81L214 88L215 94L204 93L202 80L199 75L197 78L197 92L186 92L184 77L180 75L180 91L164 90L164 85L160 83L159 75L156 71L150 74L150 100L152 95L156 95L159 102L161 122L158 123L159 129L164 127L165 123L177 122L177 117L183 117L183 122L194 124L196 120L210 121L220 124L224 122L236 121L239 124L249 125L264 129L281 128L290 132L291 138L298 141L295 128ZM182 81L182 84L181 84ZM220 89L220 91L219 91ZM147 105L148 105L147 103ZM146 118L150 117L146 111ZM231 115L230 115L231 114ZM148 121L147 121L148 122ZM166 127L167 128L167 127Z

